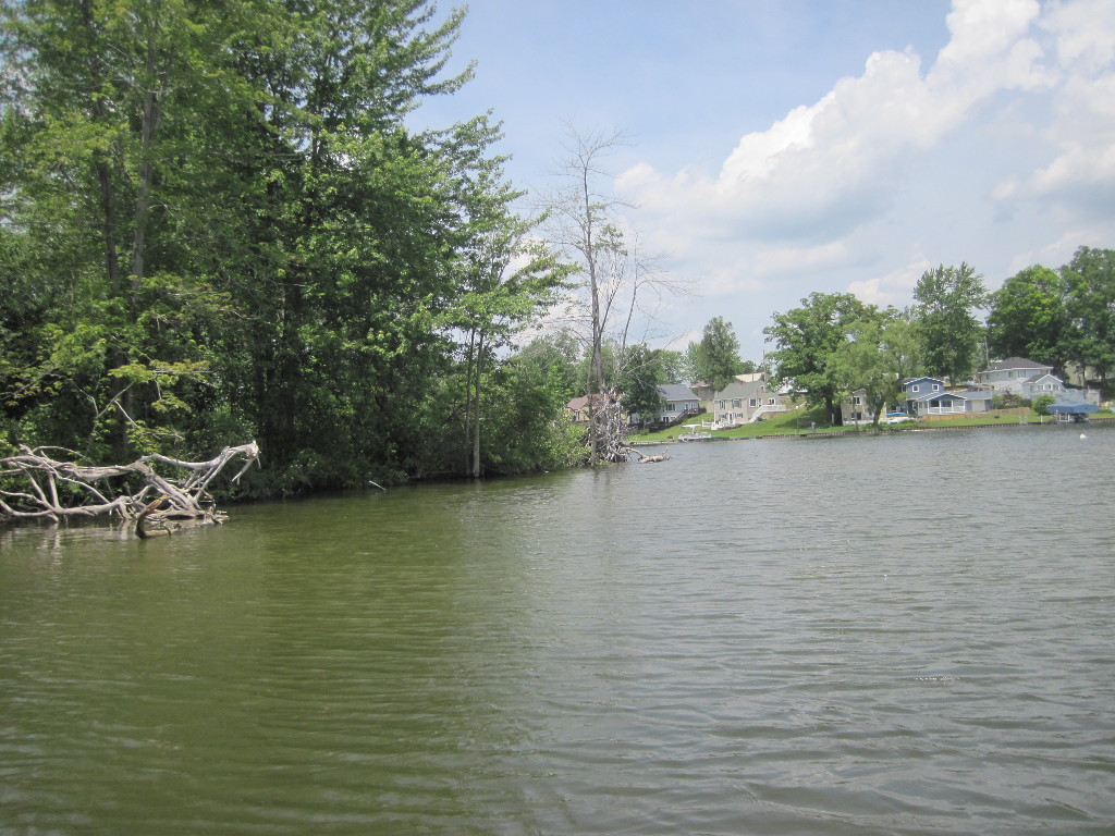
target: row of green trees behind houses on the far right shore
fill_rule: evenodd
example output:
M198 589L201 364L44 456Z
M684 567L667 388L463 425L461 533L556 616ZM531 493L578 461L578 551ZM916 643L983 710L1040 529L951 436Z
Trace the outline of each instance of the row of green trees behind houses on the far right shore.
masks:
M775 313L764 331L774 378L805 390L835 425L853 391L865 391L878 420L910 377L962 385L992 359L1025 357L1096 380L1115 369L1115 250L1082 246L1058 271L1027 268L992 293L971 265L942 264L921 275L913 299L898 310L813 293Z

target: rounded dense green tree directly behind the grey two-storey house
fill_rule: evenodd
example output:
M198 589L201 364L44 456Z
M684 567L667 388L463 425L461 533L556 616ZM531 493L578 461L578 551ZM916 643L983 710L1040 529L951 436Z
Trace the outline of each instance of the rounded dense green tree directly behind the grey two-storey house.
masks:
M1057 273L1037 264L1026 268L989 300L987 341L993 357L1025 357L1064 368L1065 303Z

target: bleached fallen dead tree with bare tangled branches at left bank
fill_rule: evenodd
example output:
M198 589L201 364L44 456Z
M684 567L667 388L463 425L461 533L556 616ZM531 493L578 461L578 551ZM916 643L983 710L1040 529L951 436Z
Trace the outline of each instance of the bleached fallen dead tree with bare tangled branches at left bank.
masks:
M20 446L0 458L0 521L51 519L115 515L169 531L167 521L220 523L209 485L230 463L242 461L232 482L260 459L255 441L225 447L209 461L182 461L159 454L129 465L90 466L59 460L57 447ZM175 476L155 469L173 468ZM139 536L146 536L143 524Z

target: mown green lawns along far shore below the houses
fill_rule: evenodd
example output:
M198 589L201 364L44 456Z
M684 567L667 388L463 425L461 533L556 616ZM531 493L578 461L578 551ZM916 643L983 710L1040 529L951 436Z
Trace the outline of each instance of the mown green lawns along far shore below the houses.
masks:
M1099 419L1109 419L1112 414L1109 410L1104 409L1094 417ZM699 424L701 418L709 420L709 416L704 415L698 416L688 422ZM987 425L1002 425L1005 427L1009 427L1018 424L1037 424L1039 421L1049 422L1051 418L1049 416L1038 416L1037 412L1027 408L996 409L990 412L958 416L956 418L933 418L918 421L904 421L903 424L880 425L879 429L886 432L904 432L911 429L924 429L927 427L978 427ZM815 425L815 428L811 427L811 424ZM633 434L628 440L631 444L639 444L639 441L673 441L677 440L678 436L687 431L686 426L680 425L660 432L637 432ZM733 429L709 430L714 438L756 438L758 436L802 435L812 431L871 432L874 430L870 425L833 427L828 424L828 421L824 420L823 407L798 407L797 409L791 409L788 412L784 412L783 415L774 418L768 418L764 421L758 421L757 424L747 424L743 427L735 427Z

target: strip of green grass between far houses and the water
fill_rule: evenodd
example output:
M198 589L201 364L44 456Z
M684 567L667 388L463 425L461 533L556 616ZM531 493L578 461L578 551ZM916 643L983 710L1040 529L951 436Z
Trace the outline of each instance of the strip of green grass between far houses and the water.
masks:
M845 435L896 435L901 432L919 432L922 430L937 429L996 429L999 427L1019 426L1046 426L1056 425L1056 421L1048 415L1038 415L1028 407L1016 409L993 409L980 415L946 418L922 418L902 424L881 424L873 426L870 422L851 424L846 426L832 426L822 420L825 410L823 407L809 408L798 406L788 412L769 418L755 424L746 424L731 429L709 429L702 428L711 435L711 440L753 440L770 438L798 438L798 437L833 437ZM707 414L706 414L707 415ZM705 416L698 416L699 421ZM1115 422L1115 414L1109 410L1102 410L1090 417L1088 424L1111 424ZM1073 425L1086 426L1086 425ZM679 444L678 437L686 432L686 425L678 425L669 429L656 432L636 432L628 437L628 444L632 447L640 445Z

